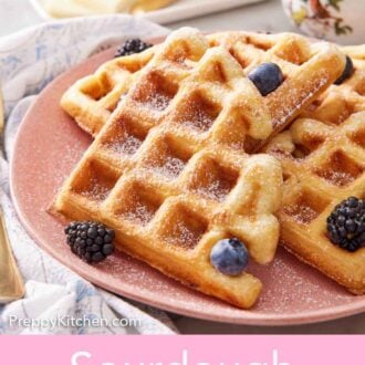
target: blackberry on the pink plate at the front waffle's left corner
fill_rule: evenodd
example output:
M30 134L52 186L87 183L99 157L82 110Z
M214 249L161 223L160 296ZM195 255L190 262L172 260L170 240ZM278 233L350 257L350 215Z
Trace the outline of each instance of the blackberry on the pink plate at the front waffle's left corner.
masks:
M64 232L71 251L88 263L103 261L114 251L115 232L102 223L75 221Z

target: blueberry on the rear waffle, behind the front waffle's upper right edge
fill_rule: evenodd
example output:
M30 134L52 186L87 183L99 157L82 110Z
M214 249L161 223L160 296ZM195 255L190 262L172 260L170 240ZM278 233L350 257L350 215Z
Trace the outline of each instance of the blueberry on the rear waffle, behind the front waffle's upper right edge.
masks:
M262 63L253 69L248 77L254 83L262 96L277 90L284 81L283 73L275 63Z

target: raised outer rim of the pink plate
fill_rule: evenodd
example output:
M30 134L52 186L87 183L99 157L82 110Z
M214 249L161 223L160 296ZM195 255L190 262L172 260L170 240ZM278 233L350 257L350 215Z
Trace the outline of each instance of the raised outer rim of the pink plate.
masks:
M103 53L112 52L113 49L105 50L103 52L100 52L92 58L88 58L84 60L83 62L74 65L73 67L69 69L67 71L61 73L59 76L56 76L46 87L43 88L43 91L39 94L38 100L31 105L31 107L27 111L25 115L23 116L21 124L17 131L17 135L14 138L14 145L13 150L10 159L10 169L9 169L9 181L10 181L10 194L11 199L15 209L15 212L24 227L25 231L30 234L30 237L34 240L34 242L45 252L48 252L51 257L53 257L55 260L61 262L63 265L69 268L70 270L77 273L83 279L92 282L93 284L105 289L107 291L111 291L117 295L125 296L127 299L132 299L148 305L153 305L155 307L161 309L164 311L177 313L180 315L206 320L206 321L215 321L215 322L221 322L221 323L231 323L231 324L246 324L246 325L260 325L260 326L291 326L291 325L299 325L299 324L310 324L310 323L321 323L326 322L330 320L335 319L342 319L354 314L359 314L365 312L365 296L363 301L354 301L351 303L344 303L332 307L323 307L323 309L316 309L316 310L305 310L304 312L298 312L298 313L254 313L253 316L250 315L250 311L242 310L242 313L247 313L249 315L240 316L240 317L233 317L226 314L206 314L205 312L201 312L199 310L195 309L184 309L184 307L176 307L174 304L166 303L166 301L160 300L157 301L156 299L146 298L143 294L136 293L136 291L128 290L128 288L111 288L105 281L98 280L97 275L91 278L86 273L86 270L83 269L83 267L77 267L73 263L66 262L63 257L58 253L58 251L52 251L48 244L43 242L43 239L39 237L39 233L34 227L32 227L31 222L28 221L27 217L24 217L22 209L20 207L20 201L17 198L17 177L15 177L15 159L19 154L21 154L21 140L22 135L27 134L27 126L29 125L31 121L29 118L29 115L32 114L33 109L38 105L38 101L40 100L40 96L44 96L49 88L52 87L54 83L58 83L62 77L65 77L69 73L74 71L75 69L80 67L83 63L90 61L93 58L101 56ZM147 263L145 263L147 265ZM178 283L177 283L178 284ZM126 286L131 286L129 284ZM356 296L354 296L356 298Z

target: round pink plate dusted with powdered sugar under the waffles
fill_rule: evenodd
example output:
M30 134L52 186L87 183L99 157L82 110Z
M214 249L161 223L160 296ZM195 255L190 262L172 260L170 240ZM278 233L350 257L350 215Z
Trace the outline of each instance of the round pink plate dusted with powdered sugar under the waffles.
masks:
M113 52L100 53L53 81L20 127L11 165L12 197L21 221L39 246L96 285L199 319L283 325L363 312L365 296L353 296L282 249L271 265L250 268L264 283L261 299L251 311L239 310L185 288L124 253L118 252L92 267L70 252L62 225L46 213L46 208L92 139L59 103L67 86L111 59Z

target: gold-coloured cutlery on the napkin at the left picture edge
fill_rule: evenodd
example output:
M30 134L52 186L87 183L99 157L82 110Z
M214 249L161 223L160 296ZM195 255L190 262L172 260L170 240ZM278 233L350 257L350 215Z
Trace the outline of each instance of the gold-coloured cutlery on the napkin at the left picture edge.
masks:
M2 93L0 88L0 136L4 127ZM9 303L24 295L23 280L12 254L3 212L0 207L0 303Z

